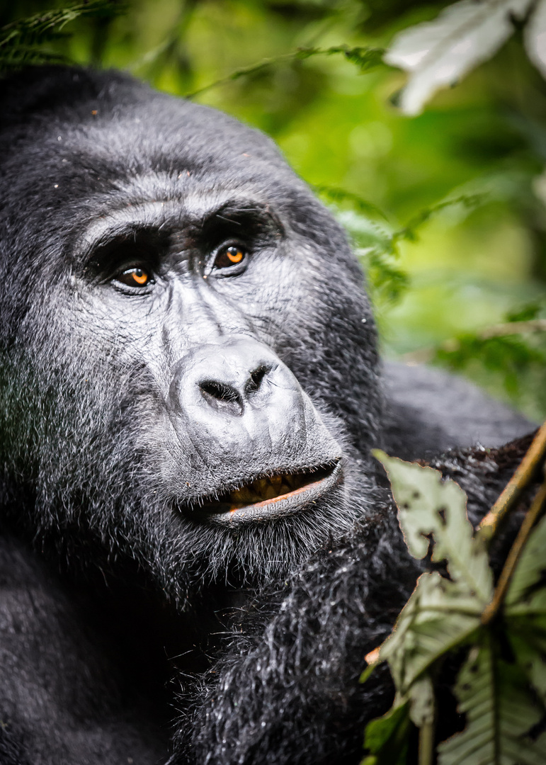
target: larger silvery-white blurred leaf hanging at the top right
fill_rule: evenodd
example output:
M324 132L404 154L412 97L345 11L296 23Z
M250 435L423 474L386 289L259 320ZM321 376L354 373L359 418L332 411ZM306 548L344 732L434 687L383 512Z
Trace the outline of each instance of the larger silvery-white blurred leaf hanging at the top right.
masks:
M531 0L461 0L398 34L385 62L411 73L401 109L418 114L436 90L492 57L514 31L512 18L524 18L530 6Z

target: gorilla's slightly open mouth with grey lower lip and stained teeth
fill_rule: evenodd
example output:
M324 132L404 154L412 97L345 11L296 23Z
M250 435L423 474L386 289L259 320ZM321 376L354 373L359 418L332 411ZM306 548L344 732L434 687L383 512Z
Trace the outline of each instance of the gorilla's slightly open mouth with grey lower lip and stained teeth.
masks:
M259 520L294 513L312 503L340 483L341 461L309 467L294 473L262 476L242 486L226 491L215 499L206 498L193 510L221 522Z

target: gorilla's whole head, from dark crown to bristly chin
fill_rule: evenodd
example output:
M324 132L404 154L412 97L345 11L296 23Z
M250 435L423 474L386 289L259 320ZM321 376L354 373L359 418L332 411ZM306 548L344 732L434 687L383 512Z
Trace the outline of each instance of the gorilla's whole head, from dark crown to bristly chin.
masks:
M0 102L12 516L177 600L347 532L377 359L327 211L268 138L128 78L31 70Z

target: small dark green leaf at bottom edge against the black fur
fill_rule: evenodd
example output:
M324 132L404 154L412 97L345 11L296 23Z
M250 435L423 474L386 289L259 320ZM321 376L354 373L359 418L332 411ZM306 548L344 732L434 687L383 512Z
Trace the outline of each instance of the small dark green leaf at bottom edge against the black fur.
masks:
M361 765L405 765L410 728L408 702L394 705L382 718L369 722L364 747L375 757L365 757Z

